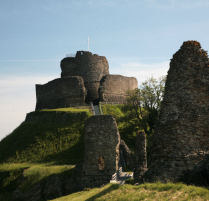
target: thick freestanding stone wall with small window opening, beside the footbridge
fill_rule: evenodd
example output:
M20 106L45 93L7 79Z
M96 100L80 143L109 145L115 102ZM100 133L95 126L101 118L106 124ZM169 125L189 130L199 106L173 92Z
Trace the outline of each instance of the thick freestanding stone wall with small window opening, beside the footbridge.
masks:
M111 115L92 116L84 126L84 161L76 165L69 192L100 187L118 170L120 135Z

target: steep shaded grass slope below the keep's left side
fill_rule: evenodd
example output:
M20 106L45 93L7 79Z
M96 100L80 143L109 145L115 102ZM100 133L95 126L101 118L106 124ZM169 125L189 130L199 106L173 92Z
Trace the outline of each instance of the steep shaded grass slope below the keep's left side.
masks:
M83 126L91 115L89 109L73 108L29 113L28 120L0 142L0 163L80 162Z

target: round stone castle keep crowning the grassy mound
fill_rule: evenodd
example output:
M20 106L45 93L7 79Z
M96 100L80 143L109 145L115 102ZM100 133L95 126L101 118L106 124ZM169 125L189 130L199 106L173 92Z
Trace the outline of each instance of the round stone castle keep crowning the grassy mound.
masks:
M36 85L36 110L99 101L123 103L127 90L138 87L134 77L110 75L106 57L88 51L62 59L60 67L61 78Z

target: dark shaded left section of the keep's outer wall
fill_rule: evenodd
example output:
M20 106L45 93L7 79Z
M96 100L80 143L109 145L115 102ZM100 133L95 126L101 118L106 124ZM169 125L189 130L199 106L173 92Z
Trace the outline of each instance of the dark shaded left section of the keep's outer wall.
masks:
M86 89L82 77L58 78L44 85L36 85L36 110L70 107L85 103Z

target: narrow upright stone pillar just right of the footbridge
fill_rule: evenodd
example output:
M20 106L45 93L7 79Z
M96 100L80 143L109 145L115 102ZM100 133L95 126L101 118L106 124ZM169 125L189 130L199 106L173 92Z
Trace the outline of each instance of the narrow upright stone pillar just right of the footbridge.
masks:
M146 134L139 131L136 135L134 181L139 182L147 171Z

